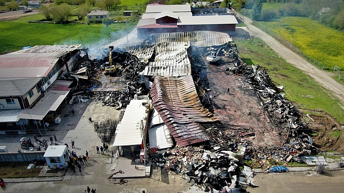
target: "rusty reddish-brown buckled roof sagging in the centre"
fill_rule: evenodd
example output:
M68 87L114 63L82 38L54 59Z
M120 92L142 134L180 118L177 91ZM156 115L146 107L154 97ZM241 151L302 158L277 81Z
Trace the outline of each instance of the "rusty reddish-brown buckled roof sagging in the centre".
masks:
M200 103L192 76L156 76L151 95L155 109L178 146L210 139L198 122L214 122L218 119Z

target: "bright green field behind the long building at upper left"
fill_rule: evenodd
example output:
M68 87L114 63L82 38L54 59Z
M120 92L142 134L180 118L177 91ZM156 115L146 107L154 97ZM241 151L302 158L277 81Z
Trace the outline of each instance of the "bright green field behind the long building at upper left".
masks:
M104 24L43 24L28 23L44 19L41 14L27 15L14 21L1 21L0 54L20 50L27 45L81 44L85 46L112 42L125 36L125 23L116 23L106 27ZM128 22L128 32L137 24Z

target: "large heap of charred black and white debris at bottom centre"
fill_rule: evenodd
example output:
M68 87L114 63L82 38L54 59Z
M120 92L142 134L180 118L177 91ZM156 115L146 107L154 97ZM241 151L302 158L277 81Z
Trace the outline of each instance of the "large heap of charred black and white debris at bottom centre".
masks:
M152 165L173 171L185 182L200 186L206 192L229 193L256 186L252 169L237 158L237 154L229 150L211 152L183 147L167 150L163 158L152 160Z

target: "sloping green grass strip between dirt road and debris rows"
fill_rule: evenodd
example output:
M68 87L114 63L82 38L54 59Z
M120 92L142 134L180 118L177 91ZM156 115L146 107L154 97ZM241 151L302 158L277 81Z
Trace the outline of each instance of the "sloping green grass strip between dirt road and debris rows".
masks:
M344 123L344 110L327 90L302 71L281 59L261 39L238 40L240 56L248 64L264 66L277 86L284 86L286 97L301 109L323 110Z

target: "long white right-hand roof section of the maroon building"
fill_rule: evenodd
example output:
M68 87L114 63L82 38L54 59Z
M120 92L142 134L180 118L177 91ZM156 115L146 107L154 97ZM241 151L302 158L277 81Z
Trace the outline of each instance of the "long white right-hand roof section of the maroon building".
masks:
M234 15L206 15L179 17L177 25L238 24Z

